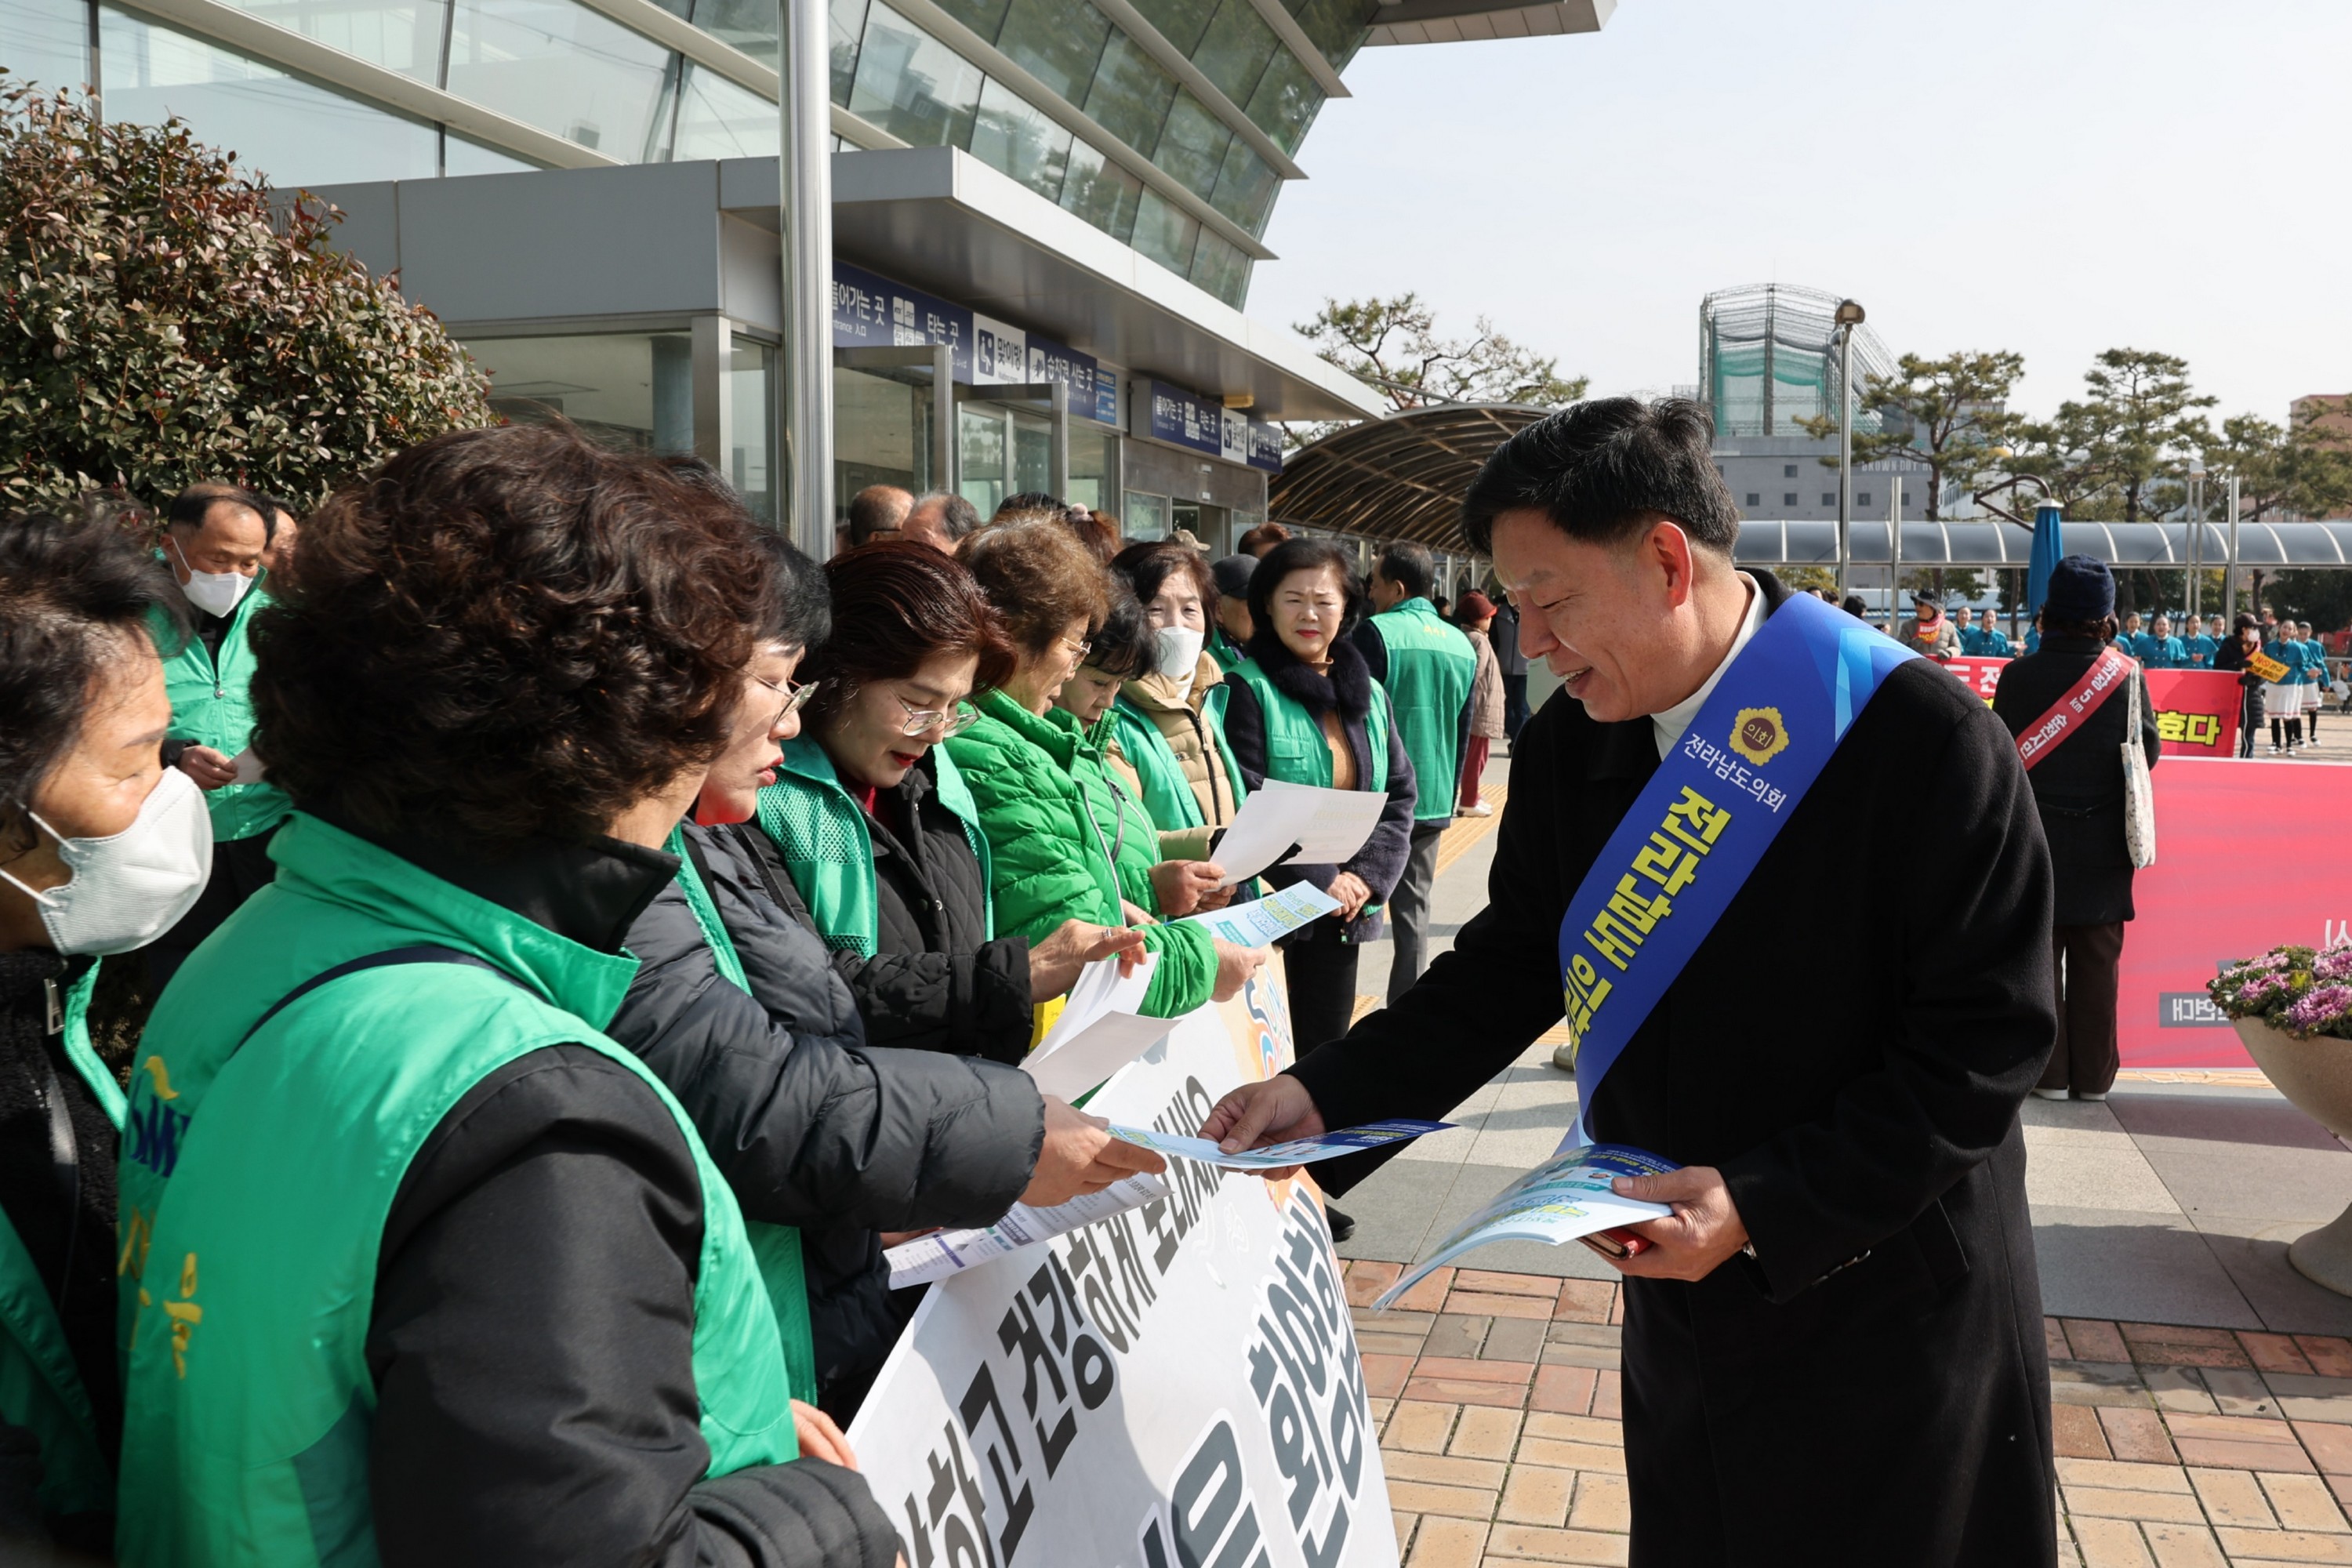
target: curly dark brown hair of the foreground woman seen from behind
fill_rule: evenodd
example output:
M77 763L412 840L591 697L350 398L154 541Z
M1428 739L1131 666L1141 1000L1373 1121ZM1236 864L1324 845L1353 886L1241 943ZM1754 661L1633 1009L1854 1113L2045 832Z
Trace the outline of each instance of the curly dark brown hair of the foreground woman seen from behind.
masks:
M254 752L365 832L586 842L727 745L776 618L739 505L579 430L412 447L254 614ZM769 623L769 625L762 625Z

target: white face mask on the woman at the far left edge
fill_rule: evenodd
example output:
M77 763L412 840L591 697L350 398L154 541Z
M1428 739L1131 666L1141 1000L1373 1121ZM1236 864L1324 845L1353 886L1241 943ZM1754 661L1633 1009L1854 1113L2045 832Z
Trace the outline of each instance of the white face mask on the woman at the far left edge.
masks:
M162 771L136 820L111 839L68 839L38 816L33 823L56 839L56 856L73 877L47 893L5 870L0 879L40 905L40 924L59 952L146 947L179 924L212 875L212 813L205 792L179 769Z

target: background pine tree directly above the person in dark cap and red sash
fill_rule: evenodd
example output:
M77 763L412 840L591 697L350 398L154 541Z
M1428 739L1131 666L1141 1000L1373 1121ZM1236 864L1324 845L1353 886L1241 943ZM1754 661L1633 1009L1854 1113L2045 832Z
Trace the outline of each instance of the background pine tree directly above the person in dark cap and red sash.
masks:
M2110 348L2082 378L2091 395L2020 425L2009 465L2046 480L2067 517L2140 522L2178 505L2171 475L2211 440L2197 409L2220 400L2190 388L2187 360L2145 348Z

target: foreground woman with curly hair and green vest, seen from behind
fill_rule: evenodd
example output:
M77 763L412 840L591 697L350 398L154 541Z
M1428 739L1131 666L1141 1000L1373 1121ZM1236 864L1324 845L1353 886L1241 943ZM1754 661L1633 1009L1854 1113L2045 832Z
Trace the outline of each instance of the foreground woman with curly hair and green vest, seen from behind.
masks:
M569 428L423 442L310 520L254 628L278 877L132 1074L120 1561L896 1559L602 1027L767 585L736 508Z

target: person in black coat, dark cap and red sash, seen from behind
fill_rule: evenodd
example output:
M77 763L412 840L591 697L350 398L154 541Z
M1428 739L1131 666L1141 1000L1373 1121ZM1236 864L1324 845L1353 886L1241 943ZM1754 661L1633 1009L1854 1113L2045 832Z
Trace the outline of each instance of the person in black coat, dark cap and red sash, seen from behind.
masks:
M2051 571L2042 604L2042 649L2002 668L1992 715L2011 736L2037 729L2072 693L2114 637L2114 576L2107 562L2070 555ZM2157 710L2147 677L2131 672L2140 701L2140 748L2157 764ZM2122 1065L2114 1039L2117 971L2131 919L2131 851L2124 846L2124 736L2131 698L2122 691L2044 750L2027 778L2051 846L2051 983L2058 1046L2034 1093L2105 1100Z

